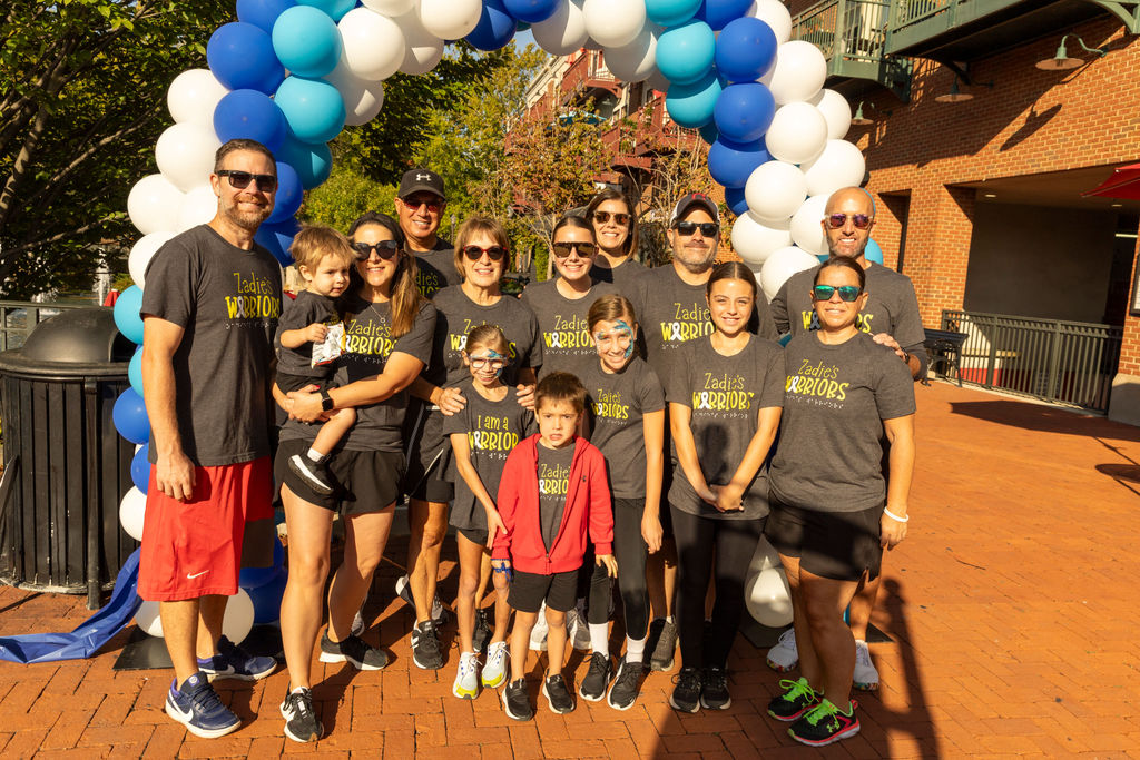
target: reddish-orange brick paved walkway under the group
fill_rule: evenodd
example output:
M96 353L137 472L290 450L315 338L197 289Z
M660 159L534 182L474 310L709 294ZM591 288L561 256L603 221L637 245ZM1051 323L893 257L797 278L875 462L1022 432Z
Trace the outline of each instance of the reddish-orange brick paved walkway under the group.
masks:
M882 676L861 698L863 732L832 757L1044 755L1140 758L1140 603L1134 547L1140 428L935 384L919 391L919 459L910 538L886 565L872 646ZM393 558L402 544L393 542ZM450 572L454 565L448 564ZM803 757L764 714L777 677L743 638L730 710L677 716L670 676L654 673L628 712L580 703L505 718L492 694L450 696L456 652L439 673L410 665L410 616L388 604L385 564L369 607L394 654L383 672L318 665L327 738L282 737L287 676L222 690L246 721L203 741L165 717L169 671L114 672L127 634L84 662L0 663L0 757L583 758ZM445 583L445 598L455 587ZM70 630L81 597L0 587L0 635ZM448 636L450 632L448 632ZM373 634L375 636L375 634ZM585 673L576 655L575 676Z

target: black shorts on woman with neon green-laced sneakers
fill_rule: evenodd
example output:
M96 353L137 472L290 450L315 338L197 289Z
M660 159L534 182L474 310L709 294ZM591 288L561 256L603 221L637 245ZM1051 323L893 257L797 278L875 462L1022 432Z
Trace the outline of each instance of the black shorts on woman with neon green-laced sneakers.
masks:
M882 505L861 512L801 509L772 499L764 531L775 550L799 557L807 572L832 580L879 577L882 564L879 523Z

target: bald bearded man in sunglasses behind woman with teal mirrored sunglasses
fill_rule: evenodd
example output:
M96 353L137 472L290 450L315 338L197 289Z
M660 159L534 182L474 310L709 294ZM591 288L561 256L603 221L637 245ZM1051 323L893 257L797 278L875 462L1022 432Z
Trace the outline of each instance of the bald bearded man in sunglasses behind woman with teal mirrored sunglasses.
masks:
M906 363L914 379L926 377L927 354L922 346L926 330L919 316L919 302L911 279L893 269L868 261L865 251L874 228L874 198L862 187L845 187L828 198L821 221L828 240L828 253L833 259L854 259L866 276L866 305L856 319L856 327L869 333L876 343L889 346ZM772 317L781 334L792 337L819 329L819 319L812 302L812 286L819 267L792 275L772 300ZM889 357L889 354L887 354ZM883 471L886 472L886 458ZM866 630L879 594L882 574L874 580L864 579L850 604L850 628L855 635L855 687L873 690L879 686L879 671L871 662L866 646ZM788 629L780 643L768 651L771 668L788 671L799 661L796 632Z

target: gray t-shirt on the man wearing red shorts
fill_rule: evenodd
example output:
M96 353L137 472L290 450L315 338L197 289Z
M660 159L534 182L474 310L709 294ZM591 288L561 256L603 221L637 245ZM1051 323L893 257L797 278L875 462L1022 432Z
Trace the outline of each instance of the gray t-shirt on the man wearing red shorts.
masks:
M174 415L195 465L269 456L280 272L260 245L244 251L206 224L172 238L147 265L142 313L185 330L172 358Z

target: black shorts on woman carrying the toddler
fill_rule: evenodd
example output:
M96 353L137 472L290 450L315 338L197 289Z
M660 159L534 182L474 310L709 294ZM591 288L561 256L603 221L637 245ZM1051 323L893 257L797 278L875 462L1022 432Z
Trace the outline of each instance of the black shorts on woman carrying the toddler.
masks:
M274 458L274 479L288 485L298 497L325 509L349 515L381 512L396 502L404 475L404 455L398 451L352 451L340 449L328 458L332 493L317 493L288 468L288 458L304 456L310 441L282 441Z

